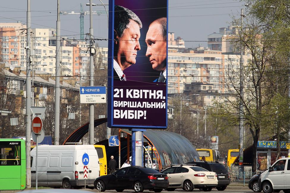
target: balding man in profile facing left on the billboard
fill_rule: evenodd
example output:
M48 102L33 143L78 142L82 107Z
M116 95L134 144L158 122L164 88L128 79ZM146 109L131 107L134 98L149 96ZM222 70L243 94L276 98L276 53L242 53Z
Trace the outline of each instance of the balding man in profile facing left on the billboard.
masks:
M149 25L146 34L147 51L152 68L160 71L154 82L166 82L167 18L158 18Z

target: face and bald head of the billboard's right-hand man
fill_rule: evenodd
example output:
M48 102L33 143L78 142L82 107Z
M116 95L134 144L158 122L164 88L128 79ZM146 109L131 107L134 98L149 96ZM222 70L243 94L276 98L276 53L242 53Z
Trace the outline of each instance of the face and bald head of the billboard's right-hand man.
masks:
M163 71L166 69L166 41L161 33L161 25L158 22L151 23L146 34L147 51L154 70Z

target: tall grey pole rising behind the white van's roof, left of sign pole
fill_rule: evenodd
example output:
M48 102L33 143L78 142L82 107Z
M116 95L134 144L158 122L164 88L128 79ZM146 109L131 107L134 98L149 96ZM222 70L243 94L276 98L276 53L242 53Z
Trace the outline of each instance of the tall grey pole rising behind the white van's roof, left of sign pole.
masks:
M57 0L57 20L56 20L56 62L55 62L55 112L54 112L54 145L59 145L59 112L60 112L60 16L59 1Z

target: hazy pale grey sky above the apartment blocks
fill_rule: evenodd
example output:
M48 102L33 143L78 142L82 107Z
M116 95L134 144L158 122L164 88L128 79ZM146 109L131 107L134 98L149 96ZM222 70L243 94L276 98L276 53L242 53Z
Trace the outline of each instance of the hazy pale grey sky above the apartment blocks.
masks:
M141 0L136 0L141 1ZM144 0L142 0L144 1ZM31 0L31 28L56 28L56 0ZM89 10L86 6L89 0L60 0L61 11ZM100 4L99 0L93 3ZM103 0L108 4L108 0ZM169 0L168 30L175 32L175 37L180 36L185 41L186 47L196 47L198 43L207 46L207 35L218 32L220 27L227 27L232 15L239 17L244 2L236 0ZM107 10L108 10L108 6ZM0 22L26 23L27 1L9 0L1 1ZM107 14L103 6L94 6L100 15L93 15L94 36L108 38ZM152 12L154 14L154 12ZM80 39L80 15L61 15L61 36L75 35ZM89 15L84 16L84 33L89 32ZM142 35L142 34L141 34ZM146 34L144 34L146 35ZM73 36L69 36L73 37ZM99 45L107 46L107 41L98 41Z

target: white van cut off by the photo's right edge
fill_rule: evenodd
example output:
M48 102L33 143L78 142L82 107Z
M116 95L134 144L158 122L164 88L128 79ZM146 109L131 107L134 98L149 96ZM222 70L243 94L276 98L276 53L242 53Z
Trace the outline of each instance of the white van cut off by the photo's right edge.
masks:
M268 170L261 173L259 186L264 193L290 193L290 158L278 159Z

